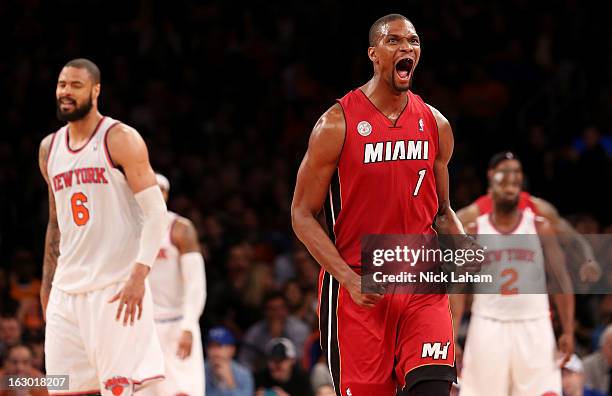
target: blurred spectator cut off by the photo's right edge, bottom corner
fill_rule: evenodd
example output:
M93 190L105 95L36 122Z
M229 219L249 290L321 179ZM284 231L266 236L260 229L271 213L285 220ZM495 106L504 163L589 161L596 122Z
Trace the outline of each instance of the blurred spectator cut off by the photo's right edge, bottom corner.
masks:
M585 385L593 390L612 394L612 325L601 335L601 349L583 360Z

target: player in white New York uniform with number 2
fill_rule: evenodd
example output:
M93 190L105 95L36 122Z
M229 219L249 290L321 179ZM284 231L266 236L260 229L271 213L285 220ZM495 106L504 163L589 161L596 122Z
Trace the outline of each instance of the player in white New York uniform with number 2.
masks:
M574 340L574 297L563 252L547 220L519 209L521 180L514 172L497 172L490 187L492 213L466 229L486 246L489 264L481 273L495 282L473 285L460 395L561 395L560 367ZM563 329L561 360L555 358L547 273L560 288L553 298ZM464 304L465 295L451 296L456 325Z

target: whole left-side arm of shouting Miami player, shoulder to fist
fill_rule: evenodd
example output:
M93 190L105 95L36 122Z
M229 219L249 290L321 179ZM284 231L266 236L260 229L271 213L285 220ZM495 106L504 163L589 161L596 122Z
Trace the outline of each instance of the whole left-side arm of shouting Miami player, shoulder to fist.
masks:
M356 298L354 293L361 289L359 276L342 259L317 221L340 158L345 133L344 114L340 105L336 104L321 116L310 135L308 150L297 174L291 203L291 224L317 262ZM373 305L376 298L366 297L365 300L361 302L368 306Z

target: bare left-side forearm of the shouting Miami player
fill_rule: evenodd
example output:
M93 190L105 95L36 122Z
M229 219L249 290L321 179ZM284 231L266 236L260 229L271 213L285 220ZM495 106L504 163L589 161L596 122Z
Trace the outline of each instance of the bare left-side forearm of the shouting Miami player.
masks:
M296 211L292 216L293 230L312 257L340 283L344 283L353 270L342 259L338 249L311 213Z

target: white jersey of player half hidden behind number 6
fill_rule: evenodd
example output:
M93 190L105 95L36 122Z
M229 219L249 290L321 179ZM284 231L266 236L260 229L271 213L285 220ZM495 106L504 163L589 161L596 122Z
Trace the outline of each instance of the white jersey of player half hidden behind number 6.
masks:
M168 229L157 259L149 273L155 320L178 318L183 314L183 278L180 253L172 242L172 228L178 215L168 212Z

